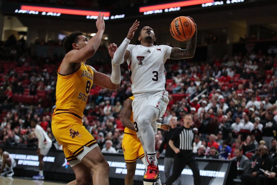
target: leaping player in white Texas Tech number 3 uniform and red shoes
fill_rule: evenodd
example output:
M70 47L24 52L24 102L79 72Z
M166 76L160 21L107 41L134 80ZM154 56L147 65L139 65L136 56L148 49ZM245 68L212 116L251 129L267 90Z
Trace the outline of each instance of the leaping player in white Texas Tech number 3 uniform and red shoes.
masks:
M194 20L192 19L194 22ZM195 22L194 22L195 23ZM129 44L134 32L138 29L136 20L130 27L127 37L114 53L113 64L120 65L127 61L130 71L131 89L134 94L133 118L137 137L146 150L149 163L143 177L145 182L156 182L159 179L159 168L155 152L156 120L161 118L168 104L168 92L165 90L166 72L164 63L167 59L192 58L196 48L197 27L195 34L186 49L156 45L155 33L145 26L140 31L136 44ZM111 44L109 50L114 50ZM160 183L159 183L160 184Z

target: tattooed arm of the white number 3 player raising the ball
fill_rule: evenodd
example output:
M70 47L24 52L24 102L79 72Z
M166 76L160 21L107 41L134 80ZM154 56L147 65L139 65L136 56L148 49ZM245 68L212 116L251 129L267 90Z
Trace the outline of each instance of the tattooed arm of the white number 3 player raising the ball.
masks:
M191 20L194 22L192 18ZM190 39L190 42L188 43L186 49L173 47L171 49L170 59L187 59L187 58L192 58L194 56L195 48L196 48L196 35L197 35L197 26L195 22L194 22L194 26L195 26L195 33Z

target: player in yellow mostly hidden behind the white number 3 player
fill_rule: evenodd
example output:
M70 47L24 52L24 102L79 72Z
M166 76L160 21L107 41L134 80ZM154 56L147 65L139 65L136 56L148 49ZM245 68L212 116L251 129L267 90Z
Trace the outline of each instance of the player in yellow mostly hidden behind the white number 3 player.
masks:
M134 124L132 102L134 96L124 101L122 109L122 125L125 126L124 136L122 140L122 149L126 162L127 174L125 176L125 185L134 184L134 175L136 171L137 158L140 158L147 169L143 146L137 138L137 125ZM157 123L157 127L163 130L169 130L170 125ZM143 182L144 185L152 185L153 183ZM154 183L155 184L155 183Z

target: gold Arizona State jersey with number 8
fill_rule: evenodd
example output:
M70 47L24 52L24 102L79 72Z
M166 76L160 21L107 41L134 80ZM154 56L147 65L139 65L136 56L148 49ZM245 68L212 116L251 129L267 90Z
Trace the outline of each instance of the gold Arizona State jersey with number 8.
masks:
M62 75L58 72L56 86L57 107L54 110L54 114L71 113L82 118L92 84L93 70L83 63L81 63L77 71L69 75Z

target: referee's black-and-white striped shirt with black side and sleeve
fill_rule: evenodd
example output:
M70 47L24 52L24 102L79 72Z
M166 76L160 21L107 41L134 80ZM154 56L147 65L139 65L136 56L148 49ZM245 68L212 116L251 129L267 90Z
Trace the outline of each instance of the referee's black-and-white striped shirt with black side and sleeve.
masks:
M171 140L174 141L174 145L180 150L192 150L194 132L192 129L187 129L184 126L178 127L173 133Z

